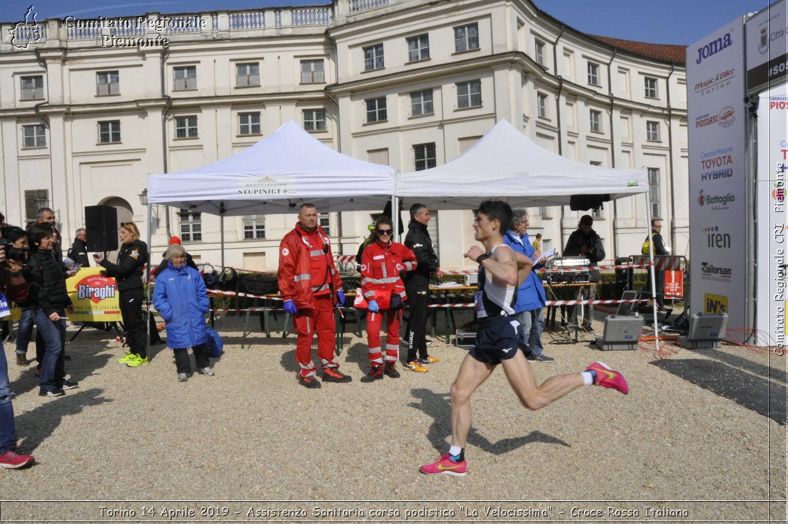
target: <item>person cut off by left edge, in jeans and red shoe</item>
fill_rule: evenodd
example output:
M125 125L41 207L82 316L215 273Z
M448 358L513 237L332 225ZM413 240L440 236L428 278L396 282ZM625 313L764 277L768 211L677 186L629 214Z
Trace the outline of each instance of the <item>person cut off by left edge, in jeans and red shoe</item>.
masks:
M8 242L0 242L0 302L24 301L28 296L29 286L22 275L22 264L6 256L8 245ZM3 314L0 313L0 316ZM12 398L6 350L0 340L0 467L17 470L32 464L35 458L33 455L25 455L17 447Z

